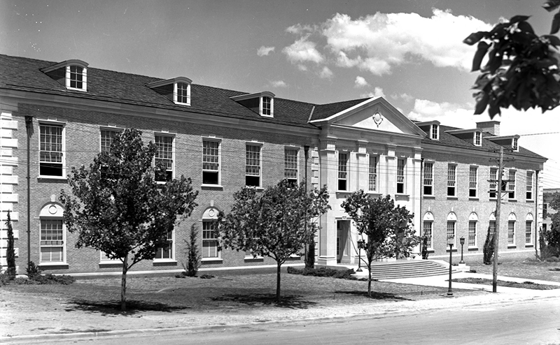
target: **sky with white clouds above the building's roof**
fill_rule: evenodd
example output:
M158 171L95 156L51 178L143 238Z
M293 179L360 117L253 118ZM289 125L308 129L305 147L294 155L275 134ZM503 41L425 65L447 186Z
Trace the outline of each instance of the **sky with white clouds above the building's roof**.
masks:
M384 96L410 119L475 128L462 43L514 15L549 34L544 0L0 0L0 54L188 77L195 84L332 103ZM560 188L560 107L502 111L500 135L549 160Z

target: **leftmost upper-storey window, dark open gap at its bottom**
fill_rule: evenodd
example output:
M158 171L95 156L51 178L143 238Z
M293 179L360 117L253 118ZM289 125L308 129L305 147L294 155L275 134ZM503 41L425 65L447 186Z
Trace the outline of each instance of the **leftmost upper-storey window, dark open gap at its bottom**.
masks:
M64 127L54 124L40 124L39 131L39 175L64 176L63 134Z

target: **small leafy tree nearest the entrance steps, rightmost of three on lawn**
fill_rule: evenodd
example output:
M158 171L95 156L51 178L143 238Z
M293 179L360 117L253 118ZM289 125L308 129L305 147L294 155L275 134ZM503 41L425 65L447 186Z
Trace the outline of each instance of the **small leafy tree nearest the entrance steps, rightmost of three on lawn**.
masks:
M369 271L367 295L372 295L372 262L380 258L408 256L420 242L414 235L412 219L406 207L395 207L391 196L372 198L363 190L351 193L342 203L351 217L365 250L365 263Z

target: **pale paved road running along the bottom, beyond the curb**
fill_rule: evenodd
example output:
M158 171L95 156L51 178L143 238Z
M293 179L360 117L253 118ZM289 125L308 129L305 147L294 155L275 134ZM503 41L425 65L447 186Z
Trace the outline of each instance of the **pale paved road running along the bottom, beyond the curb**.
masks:
M29 342L29 341L28 341ZM393 314L311 325L251 325L202 333L167 332L97 339L64 339L64 344L560 344L560 298L508 305ZM41 344L60 344L45 342Z

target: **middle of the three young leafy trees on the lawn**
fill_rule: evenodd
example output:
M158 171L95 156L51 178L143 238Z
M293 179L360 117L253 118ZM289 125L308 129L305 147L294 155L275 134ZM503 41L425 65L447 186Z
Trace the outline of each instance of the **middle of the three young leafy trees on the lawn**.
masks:
M281 265L314 240L318 226L311 220L330 210L328 191L323 187L306 193L303 182L293 185L283 179L262 193L245 187L233 198L231 212L218 215L218 249L251 251L255 257L273 258L276 302L280 302Z

